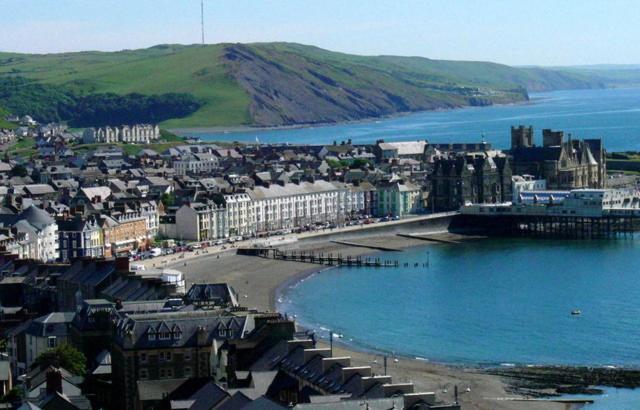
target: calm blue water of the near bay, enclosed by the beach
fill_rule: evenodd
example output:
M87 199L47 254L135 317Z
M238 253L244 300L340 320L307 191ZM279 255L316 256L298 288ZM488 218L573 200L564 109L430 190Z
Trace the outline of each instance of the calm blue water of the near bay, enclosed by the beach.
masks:
M383 257L411 267L325 271L279 308L320 334L440 362L640 366L640 238L485 240Z

